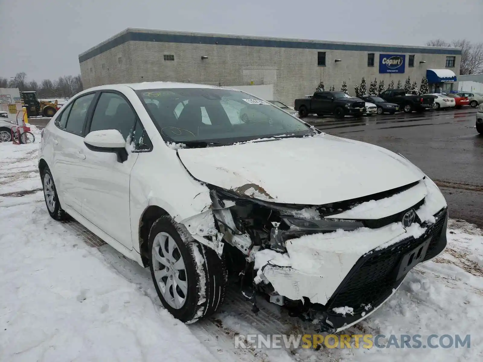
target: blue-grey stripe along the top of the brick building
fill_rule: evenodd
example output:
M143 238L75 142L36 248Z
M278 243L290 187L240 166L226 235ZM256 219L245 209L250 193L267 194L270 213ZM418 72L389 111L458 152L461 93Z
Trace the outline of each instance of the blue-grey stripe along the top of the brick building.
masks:
M412 48L385 45L365 45L365 44L342 44L342 43L323 43L323 42L299 42L290 40L272 39L252 39L242 37L223 37L210 35L190 35L190 34L159 34L143 32L127 32L117 38L102 44L90 52L79 56L79 62L98 56L114 47L125 42L167 42L185 44L209 44L209 45L238 45L238 46L258 46L267 48L292 48L292 49L314 49L314 50L352 50L360 52L389 52L389 53L413 53L413 54L447 54L461 55L461 50L455 49L431 49L431 48Z

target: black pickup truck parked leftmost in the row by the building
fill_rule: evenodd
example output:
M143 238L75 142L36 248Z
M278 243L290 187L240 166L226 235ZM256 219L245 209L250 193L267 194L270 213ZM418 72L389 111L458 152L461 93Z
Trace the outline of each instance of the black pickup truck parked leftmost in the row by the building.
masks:
M315 92L312 98L297 98L294 103L300 118L310 113L318 116L334 114L337 118L345 115L362 117L366 112L366 102L344 92Z

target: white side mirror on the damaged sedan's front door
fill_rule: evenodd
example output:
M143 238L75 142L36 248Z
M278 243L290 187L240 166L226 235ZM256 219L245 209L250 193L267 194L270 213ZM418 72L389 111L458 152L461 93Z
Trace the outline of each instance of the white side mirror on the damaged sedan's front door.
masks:
M115 153L117 162L123 163L128 159L126 140L117 129L92 131L85 136L84 144L91 151Z

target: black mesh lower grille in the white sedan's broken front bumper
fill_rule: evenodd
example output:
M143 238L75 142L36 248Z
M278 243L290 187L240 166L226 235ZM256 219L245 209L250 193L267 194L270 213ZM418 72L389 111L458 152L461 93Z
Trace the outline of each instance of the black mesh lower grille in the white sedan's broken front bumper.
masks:
M391 295L393 289L397 288L404 278L403 276L396 279L399 262L406 253L417 248L429 237L432 239L425 260L433 257L435 251L439 253L444 248L446 238L441 237L441 232L446 222L446 213L446 209L441 211L437 222L431 225L423 236L417 239L404 239L383 250L369 251L357 261L327 303L328 319L334 327L339 328L344 323L361 318L361 313L369 312ZM354 308L354 315L343 317L332 310L340 306Z

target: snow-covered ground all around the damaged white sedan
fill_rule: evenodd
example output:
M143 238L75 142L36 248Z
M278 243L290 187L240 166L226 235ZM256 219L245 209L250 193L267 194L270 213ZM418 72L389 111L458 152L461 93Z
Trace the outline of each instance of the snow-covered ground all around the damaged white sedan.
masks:
M483 357L483 232L450 220L448 247L413 269L387 303L343 334L471 335L470 348L234 349L235 334L312 326L230 291L220 313L184 325L160 305L147 270L75 222L52 220L37 143L0 143L0 361L478 361ZM451 205L450 205L451 212ZM259 298L261 299L261 298ZM379 342L382 342L380 340Z

